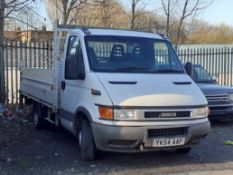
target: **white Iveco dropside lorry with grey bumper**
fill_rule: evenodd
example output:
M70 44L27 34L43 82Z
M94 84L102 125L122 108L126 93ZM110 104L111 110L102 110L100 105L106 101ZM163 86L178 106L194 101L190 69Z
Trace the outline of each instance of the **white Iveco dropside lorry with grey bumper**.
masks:
M210 130L205 96L162 35L58 26L53 63L23 69L20 92L36 128L63 126L84 160L96 150L187 153Z

